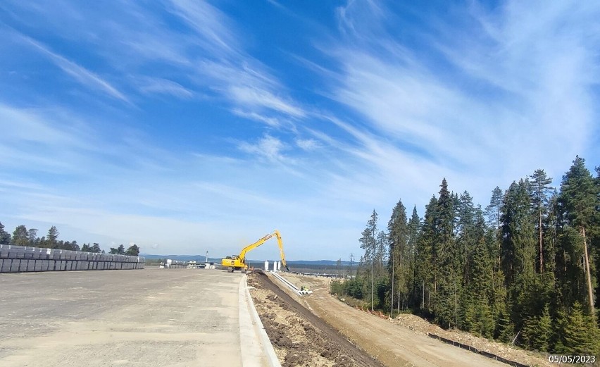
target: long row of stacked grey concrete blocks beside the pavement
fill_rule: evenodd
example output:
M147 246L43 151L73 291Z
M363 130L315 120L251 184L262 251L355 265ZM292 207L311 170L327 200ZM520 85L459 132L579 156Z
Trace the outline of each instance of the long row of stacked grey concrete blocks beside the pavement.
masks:
M143 269L144 257L0 244L0 273Z

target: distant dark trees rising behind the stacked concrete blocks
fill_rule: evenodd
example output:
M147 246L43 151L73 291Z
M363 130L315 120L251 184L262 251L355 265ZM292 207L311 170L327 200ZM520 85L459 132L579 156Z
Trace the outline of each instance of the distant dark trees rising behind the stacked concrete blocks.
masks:
M46 236L37 237L37 229L30 228L27 230L25 225L18 225L13 231L13 235L4 230L4 225L0 222L0 244L14 244L15 246L31 246L31 247L42 247L44 249L62 249L72 251L85 251L85 252L96 252L104 254L104 250L100 248L100 245L94 244L83 244L81 247L77 244L77 241L63 241L58 240L60 233L56 229L56 226L52 226ZM125 246L121 244L119 247L111 247L108 251L109 254L120 254L139 256L139 247L137 244L133 244L129 248L125 249Z

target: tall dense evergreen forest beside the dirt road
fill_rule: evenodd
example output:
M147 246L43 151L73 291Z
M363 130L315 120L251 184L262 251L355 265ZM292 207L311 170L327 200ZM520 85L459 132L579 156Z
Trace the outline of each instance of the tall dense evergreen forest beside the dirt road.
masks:
M444 179L423 218L398 201L387 230L373 211L356 278L332 293L528 349L600 355L600 167L594 178L577 156L551 182L536 170L482 209Z

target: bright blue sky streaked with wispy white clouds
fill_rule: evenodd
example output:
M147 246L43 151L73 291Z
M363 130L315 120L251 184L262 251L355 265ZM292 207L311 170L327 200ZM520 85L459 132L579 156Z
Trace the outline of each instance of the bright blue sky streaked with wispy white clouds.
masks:
M0 221L348 259L443 177L485 206L600 163L599 4L410 3L2 1Z

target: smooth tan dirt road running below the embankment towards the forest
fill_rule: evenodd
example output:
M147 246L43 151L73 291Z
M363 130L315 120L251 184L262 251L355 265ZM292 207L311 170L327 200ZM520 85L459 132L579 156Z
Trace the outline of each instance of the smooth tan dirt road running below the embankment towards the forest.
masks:
M313 290L309 297L303 297L306 306L323 318L343 335L375 356L385 366L418 367L506 367L504 363L488 359L473 352L433 340L408 328L394 325L342 304L328 292L328 280L322 278L286 278L296 285L308 285Z

